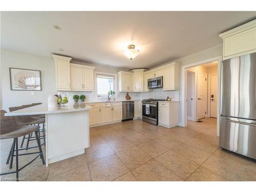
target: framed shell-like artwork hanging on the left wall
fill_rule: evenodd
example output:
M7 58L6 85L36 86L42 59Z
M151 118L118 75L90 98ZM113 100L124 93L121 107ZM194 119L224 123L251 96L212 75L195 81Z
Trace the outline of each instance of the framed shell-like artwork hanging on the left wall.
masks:
M38 70L10 69L11 90L41 91L41 73Z

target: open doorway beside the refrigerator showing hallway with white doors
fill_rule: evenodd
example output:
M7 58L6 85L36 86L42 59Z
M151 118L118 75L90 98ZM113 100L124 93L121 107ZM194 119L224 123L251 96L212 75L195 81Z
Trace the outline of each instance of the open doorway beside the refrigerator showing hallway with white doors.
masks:
M208 122L211 118L216 122L214 119L219 114L219 59L200 64L184 69L186 73L186 120Z

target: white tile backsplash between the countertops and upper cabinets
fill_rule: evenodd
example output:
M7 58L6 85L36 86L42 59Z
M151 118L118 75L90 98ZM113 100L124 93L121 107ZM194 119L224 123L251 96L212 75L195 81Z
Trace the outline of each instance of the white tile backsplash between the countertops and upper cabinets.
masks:
M90 101L106 101L105 98L99 99L96 98L95 92L69 92L69 100L70 102L73 101L74 95L86 95L86 102ZM136 99L166 99L167 96L170 97L170 94L174 94L174 98L172 100L178 101L179 100L179 91L163 91L162 89L151 89L149 92L129 92L129 95L132 97L132 100ZM117 92L115 95L116 100L125 100L126 92ZM111 99L112 100L112 99Z

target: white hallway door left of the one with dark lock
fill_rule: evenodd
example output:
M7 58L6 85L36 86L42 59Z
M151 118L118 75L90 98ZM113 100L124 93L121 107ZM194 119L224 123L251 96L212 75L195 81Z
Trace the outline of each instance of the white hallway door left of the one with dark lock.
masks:
M205 117L205 98L206 98L206 74L198 73L197 78L197 118Z

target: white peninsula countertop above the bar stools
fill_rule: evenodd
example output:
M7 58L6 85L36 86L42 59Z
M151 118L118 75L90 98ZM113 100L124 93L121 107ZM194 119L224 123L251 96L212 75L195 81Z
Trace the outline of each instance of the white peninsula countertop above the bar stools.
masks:
M76 111L88 111L92 109L91 106L86 103L67 103L67 106L56 108L48 108L47 104L39 104L31 106L30 108L25 108L22 110L17 110L13 112L6 113L5 116L18 116L18 115L42 115L42 114L52 114L52 113L68 113Z

